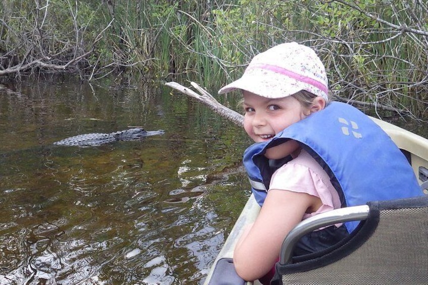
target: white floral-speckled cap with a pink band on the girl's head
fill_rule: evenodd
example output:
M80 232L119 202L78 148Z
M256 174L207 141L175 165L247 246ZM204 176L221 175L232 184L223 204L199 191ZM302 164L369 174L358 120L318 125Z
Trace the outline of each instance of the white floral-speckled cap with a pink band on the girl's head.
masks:
M306 90L328 97L326 69L315 51L297 42L282 43L254 56L238 80L219 94L242 89L266 98L282 98Z

